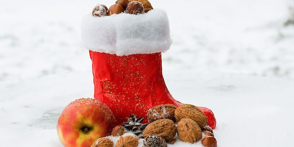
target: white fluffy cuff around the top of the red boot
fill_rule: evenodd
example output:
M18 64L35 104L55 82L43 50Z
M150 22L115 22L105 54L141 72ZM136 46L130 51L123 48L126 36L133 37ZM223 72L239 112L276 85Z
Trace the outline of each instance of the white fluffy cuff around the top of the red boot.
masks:
M117 55L165 52L172 39L167 14L162 9L145 14L86 15L82 20L82 44L87 49Z

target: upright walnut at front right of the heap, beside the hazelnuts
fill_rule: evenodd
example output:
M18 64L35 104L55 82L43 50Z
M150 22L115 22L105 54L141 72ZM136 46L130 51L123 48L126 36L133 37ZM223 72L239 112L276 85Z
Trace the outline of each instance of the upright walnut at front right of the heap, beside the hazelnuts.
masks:
M177 134L180 141L195 143L202 138L202 132L198 124L191 119L182 119L177 124Z

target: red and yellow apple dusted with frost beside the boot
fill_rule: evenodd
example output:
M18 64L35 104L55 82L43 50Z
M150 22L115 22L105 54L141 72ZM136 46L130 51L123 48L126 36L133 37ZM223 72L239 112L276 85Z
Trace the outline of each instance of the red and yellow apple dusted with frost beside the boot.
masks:
M65 147L90 147L96 139L111 135L115 124L115 117L106 104L93 98L80 98L60 114L57 133Z

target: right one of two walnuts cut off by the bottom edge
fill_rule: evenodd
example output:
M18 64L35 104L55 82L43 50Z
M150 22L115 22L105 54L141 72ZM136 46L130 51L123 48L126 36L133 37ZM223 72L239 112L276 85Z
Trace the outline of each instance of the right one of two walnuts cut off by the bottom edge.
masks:
M120 140L117 141L115 147L138 147L139 138L136 136L125 136L120 137Z

